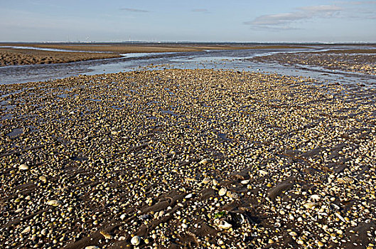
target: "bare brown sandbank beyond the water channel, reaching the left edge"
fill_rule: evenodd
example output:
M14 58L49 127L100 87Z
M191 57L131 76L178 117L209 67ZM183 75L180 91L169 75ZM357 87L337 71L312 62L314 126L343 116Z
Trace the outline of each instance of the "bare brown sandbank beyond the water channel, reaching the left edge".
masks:
M75 53L38 51L33 49L0 48L0 66L69 63L81 60L95 60L122 57L124 53L192 52L205 50L232 50L249 48L304 48L304 46L236 46L205 44L82 44L82 43L0 43L0 46L52 48L68 51L96 51L104 53Z

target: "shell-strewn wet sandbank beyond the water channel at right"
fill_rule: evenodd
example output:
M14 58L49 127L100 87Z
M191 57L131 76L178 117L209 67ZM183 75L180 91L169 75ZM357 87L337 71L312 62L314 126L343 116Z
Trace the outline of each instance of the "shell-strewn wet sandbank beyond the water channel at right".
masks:
M276 53L252 58L254 61L286 65L310 65L328 70L376 75L376 50L331 50L313 53Z

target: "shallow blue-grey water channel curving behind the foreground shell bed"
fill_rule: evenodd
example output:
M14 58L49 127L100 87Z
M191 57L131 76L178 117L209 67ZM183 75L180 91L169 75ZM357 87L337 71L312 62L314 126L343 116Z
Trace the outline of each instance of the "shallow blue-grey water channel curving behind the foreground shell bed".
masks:
M88 60L75 63L46 65L10 65L0 68L0 84L26 83L65 78L80 74L96 75L145 69L150 65L163 68L213 68L228 70L247 70L281 75L294 75L314 78L320 81L344 85L365 85L376 88L376 75L327 70L309 65L280 65L247 60L255 56L273 53L299 53L330 51L331 49L356 49L356 46L316 46L310 48L288 49L247 49L231 51L200 51L186 53L130 53L122 58ZM362 47L364 48L364 47ZM149 69L154 69L149 67Z

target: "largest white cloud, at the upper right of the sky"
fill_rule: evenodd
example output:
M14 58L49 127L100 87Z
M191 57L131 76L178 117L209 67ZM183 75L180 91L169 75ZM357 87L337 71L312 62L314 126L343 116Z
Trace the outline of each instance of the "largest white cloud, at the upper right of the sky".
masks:
M294 29L291 23L304 21L314 17L331 17L342 10L335 5L305 6L297 8L298 11L288 13L263 15L254 18L252 21L246 21L245 24L255 28L281 28Z

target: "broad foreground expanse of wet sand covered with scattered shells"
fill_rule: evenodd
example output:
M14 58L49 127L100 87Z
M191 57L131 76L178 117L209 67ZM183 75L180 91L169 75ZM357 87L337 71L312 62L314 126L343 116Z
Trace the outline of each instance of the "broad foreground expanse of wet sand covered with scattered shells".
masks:
M0 90L2 248L376 243L375 90L225 70Z

